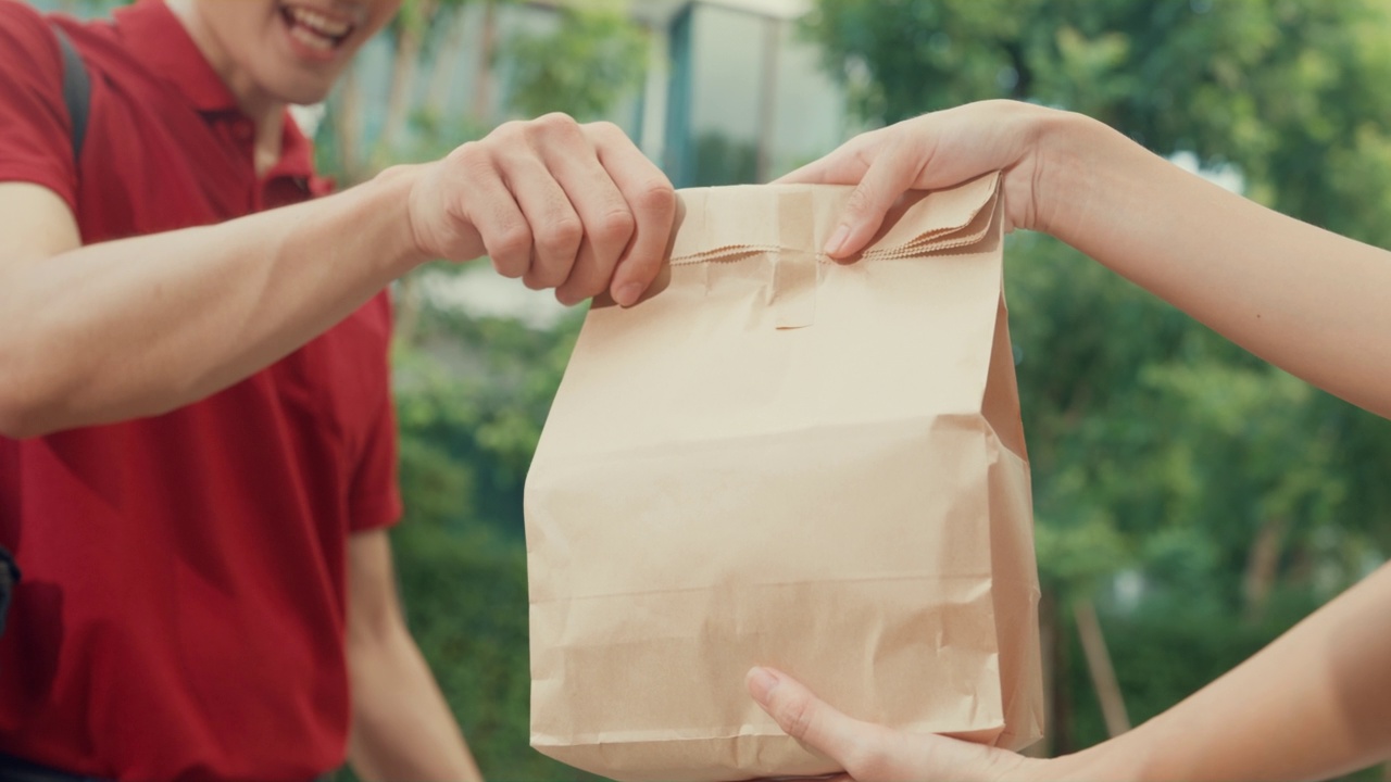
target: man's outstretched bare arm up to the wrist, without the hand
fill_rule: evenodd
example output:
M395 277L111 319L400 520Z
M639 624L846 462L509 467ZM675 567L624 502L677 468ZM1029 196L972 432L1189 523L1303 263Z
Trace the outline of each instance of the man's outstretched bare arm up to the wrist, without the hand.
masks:
M0 185L0 433L167 412L291 352L424 260L408 186L79 246L56 193Z

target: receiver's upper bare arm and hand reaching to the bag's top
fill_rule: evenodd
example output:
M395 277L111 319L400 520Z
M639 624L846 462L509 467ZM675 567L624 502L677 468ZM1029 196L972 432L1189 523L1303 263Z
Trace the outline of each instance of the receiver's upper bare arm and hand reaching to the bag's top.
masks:
M860 185L828 245L844 257L904 191L995 170L1011 225L1053 234L1257 356L1391 416L1391 253L1230 193L1095 120L976 103L853 139L785 181Z

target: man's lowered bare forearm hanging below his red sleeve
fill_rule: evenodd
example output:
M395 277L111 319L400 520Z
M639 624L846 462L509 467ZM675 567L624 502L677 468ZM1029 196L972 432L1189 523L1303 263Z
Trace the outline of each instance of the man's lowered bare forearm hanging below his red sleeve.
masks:
M348 543L348 761L363 779L483 779L406 629L385 530Z

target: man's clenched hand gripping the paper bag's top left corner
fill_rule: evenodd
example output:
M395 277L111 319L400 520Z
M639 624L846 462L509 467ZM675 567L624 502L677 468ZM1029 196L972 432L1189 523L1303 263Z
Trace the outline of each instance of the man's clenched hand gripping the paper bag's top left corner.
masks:
M426 167L409 213L430 257L487 255L504 277L555 288L562 303L609 291L627 306L657 277L676 193L616 125L548 114Z

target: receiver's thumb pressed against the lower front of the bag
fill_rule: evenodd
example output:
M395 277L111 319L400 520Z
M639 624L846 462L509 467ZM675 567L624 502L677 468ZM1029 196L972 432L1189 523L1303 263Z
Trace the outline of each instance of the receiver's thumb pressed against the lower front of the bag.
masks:
M868 725L851 719L818 699L800 682L772 668L753 668L744 678L750 694L778 726L798 742L849 768Z

